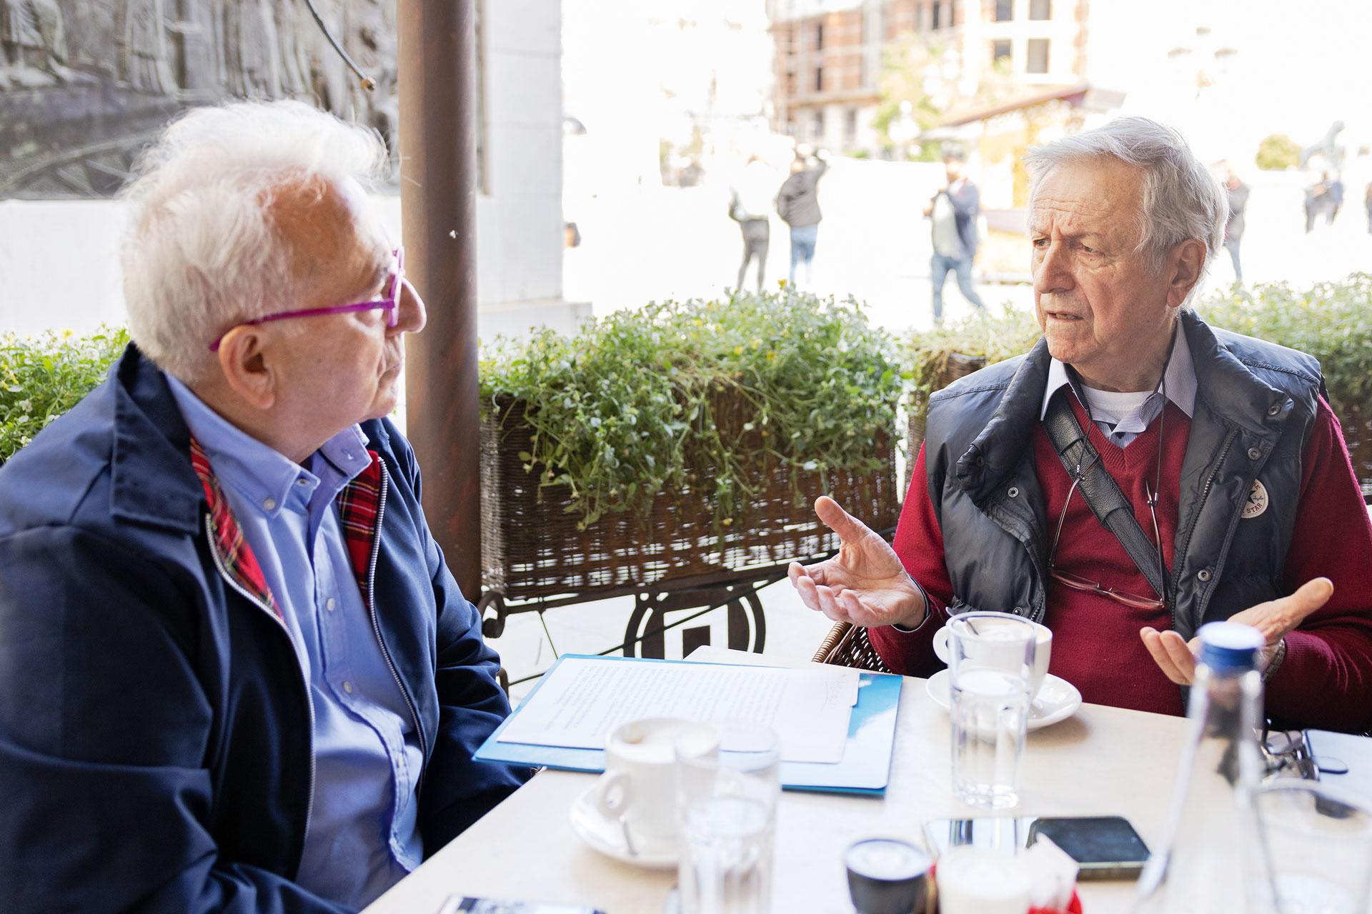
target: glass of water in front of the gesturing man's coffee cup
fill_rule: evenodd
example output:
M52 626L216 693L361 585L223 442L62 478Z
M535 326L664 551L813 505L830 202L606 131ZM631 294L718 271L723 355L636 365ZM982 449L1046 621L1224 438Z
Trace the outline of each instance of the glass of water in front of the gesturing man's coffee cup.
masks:
M960 613L948 621L952 787L965 803L1003 808L1019 802L1036 640L1033 622L1006 613Z

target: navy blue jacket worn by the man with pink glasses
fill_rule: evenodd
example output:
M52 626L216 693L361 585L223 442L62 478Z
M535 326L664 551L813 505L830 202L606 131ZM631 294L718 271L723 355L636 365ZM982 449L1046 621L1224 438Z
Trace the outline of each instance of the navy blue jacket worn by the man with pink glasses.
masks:
M472 761L509 714L499 660L429 534L409 443L362 429L387 477L376 621L420 722L434 854L527 769ZM206 522L189 432L133 347L0 467L7 914L342 910L292 882L313 788L299 660L221 574Z

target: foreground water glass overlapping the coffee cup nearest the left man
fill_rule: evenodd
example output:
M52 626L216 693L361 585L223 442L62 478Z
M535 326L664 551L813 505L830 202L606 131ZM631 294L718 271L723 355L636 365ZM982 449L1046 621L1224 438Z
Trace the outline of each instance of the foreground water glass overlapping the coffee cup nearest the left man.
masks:
M676 755L682 911L767 914L781 743L767 728L719 730L718 755Z

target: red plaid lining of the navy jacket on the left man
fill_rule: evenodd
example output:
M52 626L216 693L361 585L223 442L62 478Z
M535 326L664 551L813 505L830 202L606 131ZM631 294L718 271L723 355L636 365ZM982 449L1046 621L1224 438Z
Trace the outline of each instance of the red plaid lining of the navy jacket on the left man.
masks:
M357 586L362 592L362 602L370 607L368 584L372 566L372 544L379 533L376 528L377 514L381 500L381 458L376 451L368 449L372 465L357 474L338 495L339 517L343 519L343 539L347 543L348 559L353 563L353 574L357 577ZM251 547L243 539L243 530L229 510L229 502L224 497L220 481L210 469L210 460L204 456L200 443L191 439L191 466L195 475L204 488L204 500L210 507L210 536L214 539L213 548L224 559L224 569L233 581L250 595L270 607L280 619L281 608L272 596L272 589L262 576L262 566L252 555Z

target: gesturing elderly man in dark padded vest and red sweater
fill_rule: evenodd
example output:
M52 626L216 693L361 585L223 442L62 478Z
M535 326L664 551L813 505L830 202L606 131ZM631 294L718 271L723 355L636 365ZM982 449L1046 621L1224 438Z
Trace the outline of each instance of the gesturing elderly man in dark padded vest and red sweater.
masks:
M1195 630L1232 618L1268 639L1270 717L1372 728L1372 526L1320 366L1185 307L1221 188L1143 118L1028 164L1044 338L930 397L895 549L819 500L842 548L792 566L803 600L914 676L949 614L1024 615L1087 702L1165 714ZM1098 521L1083 491L1111 480L1121 510Z

